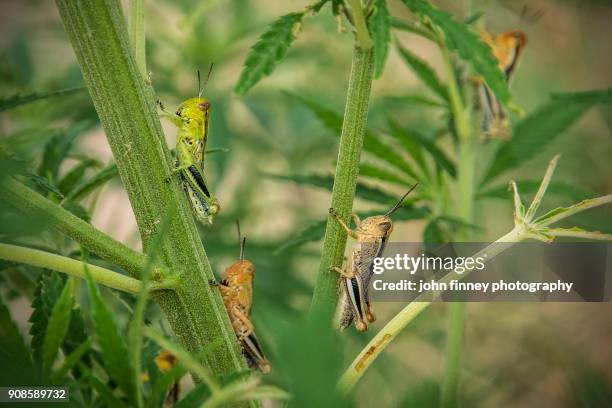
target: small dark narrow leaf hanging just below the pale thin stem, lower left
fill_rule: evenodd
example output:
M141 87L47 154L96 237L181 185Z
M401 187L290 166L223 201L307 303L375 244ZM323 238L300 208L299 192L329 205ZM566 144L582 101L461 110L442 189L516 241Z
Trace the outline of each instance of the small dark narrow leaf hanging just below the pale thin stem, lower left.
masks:
M34 292L34 299L31 305L32 314L29 319L32 325L30 326L30 335L32 336L30 346L32 347L34 361L41 366L47 325L51 317L53 305L57 303L63 287L64 281L59 274L44 271L38 278L38 285Z

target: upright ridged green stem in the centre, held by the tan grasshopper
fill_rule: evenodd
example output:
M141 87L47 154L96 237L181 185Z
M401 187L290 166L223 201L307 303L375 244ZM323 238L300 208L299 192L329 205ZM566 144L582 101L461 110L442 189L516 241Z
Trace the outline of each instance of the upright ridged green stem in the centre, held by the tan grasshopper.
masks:
M331 207L347 222L357 186L373 72L373 49L355 46L331 200ZM338 282L337 273L330 268L342 265L345 246L346 232L328 216L311 313L330 321L337 303Z

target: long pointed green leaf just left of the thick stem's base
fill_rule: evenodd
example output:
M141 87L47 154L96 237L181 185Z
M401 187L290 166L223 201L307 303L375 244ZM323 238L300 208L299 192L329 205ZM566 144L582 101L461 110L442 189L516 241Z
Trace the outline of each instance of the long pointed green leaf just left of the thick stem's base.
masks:
M106 306L98 285L93 281L87 267L87 287L91 298L92 315L96 330L96 339L102 351L102 360L110 377L115 380L123 393L135 404L134 395L137 386L134 384L130 365L129 351L119 334L119 329L113 318L112 312ZM82 365L80 365L82 367ZM93 385L93 384L92 384Z

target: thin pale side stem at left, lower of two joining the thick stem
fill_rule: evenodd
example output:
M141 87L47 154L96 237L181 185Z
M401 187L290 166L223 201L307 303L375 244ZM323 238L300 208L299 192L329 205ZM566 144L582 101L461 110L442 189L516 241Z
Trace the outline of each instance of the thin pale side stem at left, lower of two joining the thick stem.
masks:
M51 269L85 279L83 262L50 252L39 251L38 249L0 244L0 259ZM138 279L130 278L129 276L121 275L110 269L92 264L87 264L87 267L94 281L101 285L134 294L140 290L140 281Z

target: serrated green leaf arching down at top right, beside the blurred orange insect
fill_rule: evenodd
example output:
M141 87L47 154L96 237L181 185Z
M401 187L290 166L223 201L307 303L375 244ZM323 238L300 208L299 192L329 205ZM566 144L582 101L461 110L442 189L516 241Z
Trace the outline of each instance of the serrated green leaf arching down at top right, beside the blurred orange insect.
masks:
M499 69L491 48L469 26L457 21L451 14L432 6L425 0L402 0L421 19L431 22L444 33L444 43L467 61L481 75L497 98L507 105L510 91L504 74Z

